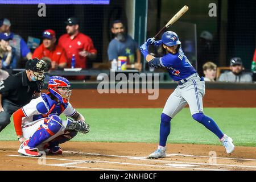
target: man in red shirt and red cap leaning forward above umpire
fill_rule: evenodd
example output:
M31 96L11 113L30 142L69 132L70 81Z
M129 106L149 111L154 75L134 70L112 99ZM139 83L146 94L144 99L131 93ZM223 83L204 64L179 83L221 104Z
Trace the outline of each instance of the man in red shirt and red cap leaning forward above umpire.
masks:
M65 50L56 43L56 34L53 30L43 32L43 43L35 49L32 58L48 58L51 61L51 69L65 68L67 66L67 57ZM44 60L43 59L43 60Z

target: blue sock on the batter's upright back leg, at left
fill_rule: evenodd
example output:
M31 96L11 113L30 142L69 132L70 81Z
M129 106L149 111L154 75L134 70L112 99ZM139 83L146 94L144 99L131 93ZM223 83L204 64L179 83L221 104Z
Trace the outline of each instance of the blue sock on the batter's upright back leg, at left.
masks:
M162 113L160 123L159 146L165 147L168 135L171 132L171 117Z

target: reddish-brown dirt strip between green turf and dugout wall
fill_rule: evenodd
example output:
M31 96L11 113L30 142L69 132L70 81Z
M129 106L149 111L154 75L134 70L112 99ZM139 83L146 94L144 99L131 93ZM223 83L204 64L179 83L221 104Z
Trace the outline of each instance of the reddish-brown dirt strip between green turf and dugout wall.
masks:
M99 94L96 89L72 90L71 103L77 108L162 108L172 89L160 89L157 100L148 94ZM204 96L204 107L256 107L256 90L214 90Z

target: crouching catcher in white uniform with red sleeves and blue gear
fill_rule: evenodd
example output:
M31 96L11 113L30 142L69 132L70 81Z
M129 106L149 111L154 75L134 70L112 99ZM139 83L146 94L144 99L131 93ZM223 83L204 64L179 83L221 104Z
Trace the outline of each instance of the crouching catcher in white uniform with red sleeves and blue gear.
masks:
M69 103L70 83L64 77L52 76L48 82L48 93L32 100L15 111L14 127L21 143L19 154L40 156L62 154L59 144L71 140L77 132L88 133L85 118ZM63 113L72 119L62 120Z

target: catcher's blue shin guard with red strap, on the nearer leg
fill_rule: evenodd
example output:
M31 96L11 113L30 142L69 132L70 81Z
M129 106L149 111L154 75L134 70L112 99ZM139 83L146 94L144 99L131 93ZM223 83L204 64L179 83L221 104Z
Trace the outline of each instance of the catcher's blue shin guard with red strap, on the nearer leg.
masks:
M62 120L60 119L59 116L50 114L45 124L48 126L48 128L45 129L43 126L41 126L34 133L34 135L32 135L27 146L36 147L40 143L50 138L52 135L55 135L61 129Z

